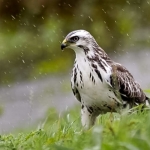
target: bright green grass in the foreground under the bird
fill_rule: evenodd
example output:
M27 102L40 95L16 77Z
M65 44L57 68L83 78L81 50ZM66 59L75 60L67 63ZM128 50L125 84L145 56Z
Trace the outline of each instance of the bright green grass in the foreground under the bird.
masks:
M150 112L126 115L108 113L90 130L82 130L79 109L59 116L50 110L48 118L30 133L0 136L0 150L148 150Z

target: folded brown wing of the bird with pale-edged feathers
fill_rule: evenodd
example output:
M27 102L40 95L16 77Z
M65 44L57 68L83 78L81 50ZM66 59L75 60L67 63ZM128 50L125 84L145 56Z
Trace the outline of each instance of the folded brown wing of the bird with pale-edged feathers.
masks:
M130 72L118 63L112 64L111 85L119 91L123 100L139 104L145 102L146 95L140 85L134 80Z

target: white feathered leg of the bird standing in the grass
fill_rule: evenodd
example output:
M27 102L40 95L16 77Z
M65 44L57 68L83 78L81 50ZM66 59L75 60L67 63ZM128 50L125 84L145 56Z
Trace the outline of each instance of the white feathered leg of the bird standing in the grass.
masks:
M82 105L81 108L81 122L85 129L89 129L95 123L97 115L93 111L89 111L86 106Z

